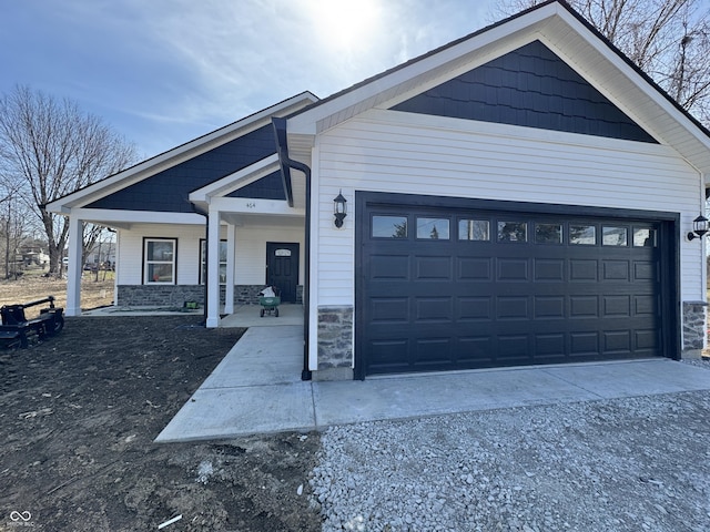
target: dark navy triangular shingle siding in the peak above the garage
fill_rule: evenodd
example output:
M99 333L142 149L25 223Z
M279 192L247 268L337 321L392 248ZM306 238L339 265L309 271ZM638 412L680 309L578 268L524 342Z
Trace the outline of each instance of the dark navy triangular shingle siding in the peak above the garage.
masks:
M392 109L656 143L540 41Z

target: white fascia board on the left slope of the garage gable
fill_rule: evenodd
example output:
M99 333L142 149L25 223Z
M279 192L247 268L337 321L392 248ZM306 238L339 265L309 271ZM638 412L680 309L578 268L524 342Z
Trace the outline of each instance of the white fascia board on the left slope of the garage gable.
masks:
M306 110L295 116L288 119L290 134L314 135L320 133L317 124L328 116L337 114L343 110L356 106L362 102L375 99L378 94L384 93L399 84L409 83L415 78L426 74L434 69L440 69L446 63L460 60L462 57L475 53L476 51L501 41L519 31L532 32L535 28L544 23L547 19L566 12L557 3L551 3L542 8L538 8L521 17L509 20L508 22L480 31L480 33L466 39L457 44L450 45L439 52L425 57L407 66L395 70L389 74L375 78L372 82L345 92L343 95L334 98L331 101ZM375 100L373 100L375 101ZM364 109L363 109L364 111Z

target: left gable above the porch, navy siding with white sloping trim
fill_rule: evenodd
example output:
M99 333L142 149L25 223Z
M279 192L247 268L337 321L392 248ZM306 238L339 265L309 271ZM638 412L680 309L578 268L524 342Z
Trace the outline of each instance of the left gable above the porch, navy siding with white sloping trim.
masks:
M303 92L168 152L108 176L47 205L51 212L72 207L190 212L190 192L276 153L271 117L316 102Z

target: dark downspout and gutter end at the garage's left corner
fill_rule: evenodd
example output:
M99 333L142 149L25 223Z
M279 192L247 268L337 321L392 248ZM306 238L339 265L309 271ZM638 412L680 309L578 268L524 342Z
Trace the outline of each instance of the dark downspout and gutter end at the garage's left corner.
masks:
M286 188L286 196L290 206L293 207L293 193L288 194L288 192L291 192L290 168L303 172L306 176L306 231L304 237L305 273L303 278L303 370L301 371L301 380L311 380L311 378L313 377L312 371L308 369L308 321L311 317L311 298L308 297L308 293L311 291L311 167L288 157L288 145L286 143L286 119L273 116L271 120L274 126L274 134L276 135L276 151L278 153L278 161L281 161L281 173L284 180L284 186Z

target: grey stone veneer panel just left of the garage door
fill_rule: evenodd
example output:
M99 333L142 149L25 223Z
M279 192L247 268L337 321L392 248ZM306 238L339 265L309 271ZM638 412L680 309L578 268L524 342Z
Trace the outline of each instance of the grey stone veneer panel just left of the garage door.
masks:
M318 371L353 367L353 307L318 307Z

